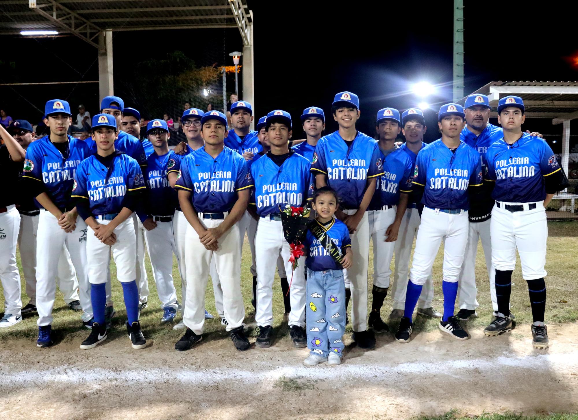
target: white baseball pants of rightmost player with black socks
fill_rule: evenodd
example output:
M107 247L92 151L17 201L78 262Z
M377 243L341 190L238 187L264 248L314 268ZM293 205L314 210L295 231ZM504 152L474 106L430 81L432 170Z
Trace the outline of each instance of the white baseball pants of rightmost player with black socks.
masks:
M516 248L522 264L522 278L535 280L546 277L546 240L548 224L544 202L536 202L536 208L520 212L510 212L504 205L531 203L501 202L501 208L494 205L490 231L492 236L492 264L496 270L506 271L516 268Z

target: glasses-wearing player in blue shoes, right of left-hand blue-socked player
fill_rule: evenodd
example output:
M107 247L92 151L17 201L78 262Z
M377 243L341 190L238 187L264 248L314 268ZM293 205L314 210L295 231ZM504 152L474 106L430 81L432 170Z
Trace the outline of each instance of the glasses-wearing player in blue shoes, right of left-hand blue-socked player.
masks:
M171 133L165 120L149 121L146 133L154 153L147 159L145 169L149 186L144 206L147 213L139 216L146 229L144 238L153 266L158 299L164 311L161 319L164 323L175 319L178 308L173 281L173 253L177 257L177 264L180 264L173 233L173 216L178 198L171 183L176 183L180 159L169 150L168 139Z

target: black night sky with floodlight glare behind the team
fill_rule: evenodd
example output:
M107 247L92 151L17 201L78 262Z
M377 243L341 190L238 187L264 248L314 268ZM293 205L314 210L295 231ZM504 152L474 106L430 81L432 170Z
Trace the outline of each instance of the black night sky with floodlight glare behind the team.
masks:
M436 105L426 110L426 140L438 138L436 113L451 101L451 1L359 3L365 8L356 8L355 2L271 3L249 0L255 21L255 117L281 108L298 121L308 106L321 106L329 114L335 93L350 90L361 101L358 129L373 135L377 110L416 106L421 99L414 97L411 86L427 80L439 88L426 100ZM577 2L558 2L550 10L525 8L524 2L465 3L465 94L492 80L578 80L572 60L578 55L573 34ZM98 80L97 51L73 36L0 39L1 83ZM144 58L178 49L197 65L230 65L228 53L241 48L236 29L116 32L116 94L122 95L123 81L139 71L133 63ZM233 89L234 79L229 78L228 91ZM39 119L38 108L52 97L69 100L73 108L83 102L93 115L98 111L97 83L0 87L0 107L13 118ZM176 117L181 110L182 104L173 104L168 112ZM140 111L147 119L157 117ZM327 122L327 131L336 129L330 115ZM559 151L561 125L529 119L525 128L553 135L549 143ZM302 136L299 124L295 136Z

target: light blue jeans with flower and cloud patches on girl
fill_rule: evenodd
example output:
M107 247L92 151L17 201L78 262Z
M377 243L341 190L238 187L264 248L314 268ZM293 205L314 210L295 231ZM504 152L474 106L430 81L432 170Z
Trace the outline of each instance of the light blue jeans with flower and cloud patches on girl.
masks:
M307 347L319 356L343 352L345 282L342 270L307 269Z

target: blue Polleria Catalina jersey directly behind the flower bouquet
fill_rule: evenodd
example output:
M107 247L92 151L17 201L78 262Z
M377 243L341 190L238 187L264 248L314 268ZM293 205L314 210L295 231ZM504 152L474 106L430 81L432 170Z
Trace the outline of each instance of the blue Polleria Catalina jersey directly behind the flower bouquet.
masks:
M315 183L310 167L305 157L292 150L280 167L266 154L255 161L251 166L255 187L250 204L257 207L257 214L279 214L279 206L298 207L311 200Z

